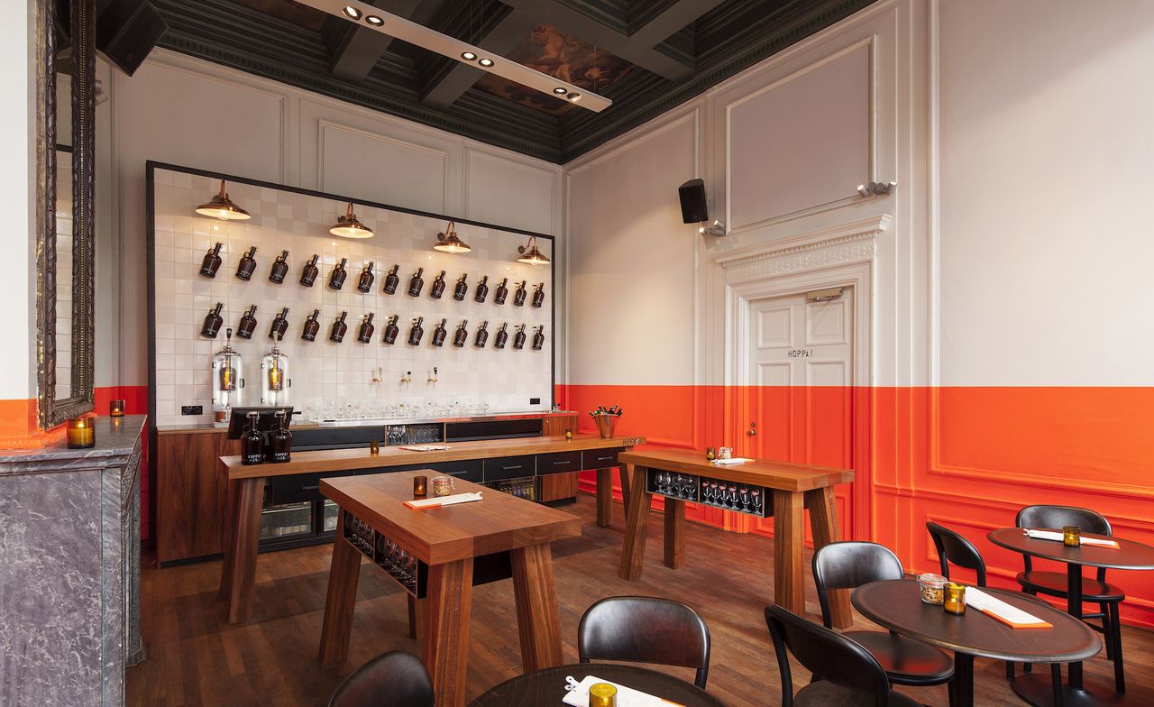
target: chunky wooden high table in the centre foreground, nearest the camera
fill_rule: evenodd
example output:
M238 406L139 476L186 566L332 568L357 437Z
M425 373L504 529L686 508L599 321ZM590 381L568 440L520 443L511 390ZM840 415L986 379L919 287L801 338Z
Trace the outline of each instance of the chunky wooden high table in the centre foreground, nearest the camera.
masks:
M481 491L481 500L417 511L405 501L413 498L418 474L429 471L321 479L321 493L340 508L324 601L321 662L337 663L349 654L364 553L410 596L426 600L424 657L439 707L465 704L474 585L512 579L525 672L561 664L549 544L579 536L580 519L466 481L457 482L456 492ZM399 552L405 553L405 565L398 565Z

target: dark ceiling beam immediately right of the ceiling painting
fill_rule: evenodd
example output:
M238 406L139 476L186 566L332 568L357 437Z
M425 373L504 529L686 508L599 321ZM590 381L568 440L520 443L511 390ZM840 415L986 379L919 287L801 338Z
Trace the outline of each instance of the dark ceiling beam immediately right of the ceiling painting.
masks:
M638 42L634 37L607 27L590 15L575 9L563 0L502 0L502 2L534 15L541 22L552 24L567 35L580 37L590 44L595 44L599 49L621 57L625 61L652 72L662 79L680 81L694 74L694 67L653 49L653 45L665 39L665 37L660 37L652 43ZM675 5L680 6L682 3L677 2ZM640 28L638 32L643 30L644 28ZM669 34L672 35L673 32Z

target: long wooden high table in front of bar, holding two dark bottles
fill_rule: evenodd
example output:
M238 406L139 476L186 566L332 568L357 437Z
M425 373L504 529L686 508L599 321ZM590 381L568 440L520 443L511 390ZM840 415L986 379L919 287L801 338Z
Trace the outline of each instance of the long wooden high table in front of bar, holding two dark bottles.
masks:
M225 513L220 598L228 601L228 623L247 622L252 613L264 486L279 477L324 472L332 472L334 476L376 474L478 460L484 461L485 481L583 469L605 469L608 474L609 467L619 466L620 452L640 444L645 444L640 437L602 439L598 434L575 434L572 439L559 436L450 442L450 448L441 452L411 452L400 447L381 447L379 454L369 454L367 447L294 452L291 461L279 464L245 466L240 456L222 456L220 472L227 482L228 509ZM428 472L430 477L436 474ZM600 483L598 486L600 490ZM599 520L602 506L612 503L610 493L598 494ZM607 508L604 515L608 518Z

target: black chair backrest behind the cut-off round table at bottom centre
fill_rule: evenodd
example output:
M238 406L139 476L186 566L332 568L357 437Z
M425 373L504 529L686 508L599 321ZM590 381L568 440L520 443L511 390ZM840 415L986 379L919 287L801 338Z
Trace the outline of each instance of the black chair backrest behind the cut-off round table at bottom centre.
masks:
M710 630L691 608L651 596L610 596L585 611L577 627L577 656L696 668L705 689Z

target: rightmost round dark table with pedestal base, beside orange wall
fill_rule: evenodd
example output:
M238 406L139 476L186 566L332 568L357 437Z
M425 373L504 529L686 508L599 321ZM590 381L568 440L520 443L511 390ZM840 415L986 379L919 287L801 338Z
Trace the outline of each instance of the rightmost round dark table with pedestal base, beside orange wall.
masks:
M1054 528L1037 528L1039 530L1054 530ZM1058 528L1057 533L1062 533ZM1078 548L1066 548L1057 541L1039 539L1029 537L1021 528L998 528L990 530L986 536L995 545L1066 564L1066 612L1081 620L1081 568L1085 567L1108 567L1112 570L1154 570L1154 548L1121 537L1109 537L1103 535L1085 534L1082 537L1100 537L1112 539L1118 543L1117 548L1095 548L1094 545L1080 545ZM1014 678L1013 690L1024 700L1037 707L1049 707L1055 704L1054 689L1050 677L1035 672L1027 672ZM1089 707L1093 705L1119 705L1124 698L1112 690L1108 697L1099 692L1093 694L1082 682L1082 665L1080 662L1070 664L1070 677L1063 690L1062 704L1064 707Z

